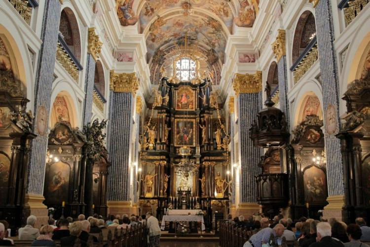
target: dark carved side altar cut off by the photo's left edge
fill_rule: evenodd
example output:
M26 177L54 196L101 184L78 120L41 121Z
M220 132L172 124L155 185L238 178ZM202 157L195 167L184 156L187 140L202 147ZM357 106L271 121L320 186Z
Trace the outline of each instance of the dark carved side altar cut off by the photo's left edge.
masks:
M29 215L25 206L27 170L32 133L28 99L0 91L0 219L10 228L23 225Z

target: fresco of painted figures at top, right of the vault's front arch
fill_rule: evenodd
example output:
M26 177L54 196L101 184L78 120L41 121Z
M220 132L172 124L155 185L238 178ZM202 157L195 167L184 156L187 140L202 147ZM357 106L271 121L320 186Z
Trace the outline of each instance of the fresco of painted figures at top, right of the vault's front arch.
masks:
M245 28L253 27L259 11L259 0L239 0L239 3L239 13L234 18L235 25Z

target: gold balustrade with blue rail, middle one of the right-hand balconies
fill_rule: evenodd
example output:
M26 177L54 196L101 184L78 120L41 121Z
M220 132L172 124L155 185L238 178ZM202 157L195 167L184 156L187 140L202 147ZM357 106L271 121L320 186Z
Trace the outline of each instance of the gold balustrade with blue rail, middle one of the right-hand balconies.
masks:
M293 71L295 83L298 82L304 76L304 74L306 74L306 72L312 67L318 58L319 50L317 48L317 38L315 36L290 69Z

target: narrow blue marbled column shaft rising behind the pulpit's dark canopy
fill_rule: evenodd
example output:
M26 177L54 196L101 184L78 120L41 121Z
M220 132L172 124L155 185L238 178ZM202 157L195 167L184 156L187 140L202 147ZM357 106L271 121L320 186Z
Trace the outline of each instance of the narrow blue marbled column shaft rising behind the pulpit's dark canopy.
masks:
M287 76L287 56L282 56L278 62L278 79L280 92L280 110L285 114L287 123L290 123L288 95L288 76ZM289 130L289 124L288 124Z

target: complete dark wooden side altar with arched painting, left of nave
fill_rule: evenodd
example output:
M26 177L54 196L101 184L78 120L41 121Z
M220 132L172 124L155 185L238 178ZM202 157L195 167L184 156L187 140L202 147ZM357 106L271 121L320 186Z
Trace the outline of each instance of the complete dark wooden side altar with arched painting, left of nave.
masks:
M84 212L85 136L68 122L50 131L45 169L44 204L55 208L54 217L77 217Z

